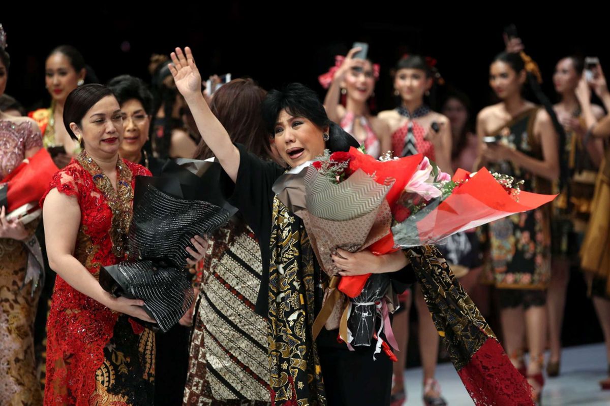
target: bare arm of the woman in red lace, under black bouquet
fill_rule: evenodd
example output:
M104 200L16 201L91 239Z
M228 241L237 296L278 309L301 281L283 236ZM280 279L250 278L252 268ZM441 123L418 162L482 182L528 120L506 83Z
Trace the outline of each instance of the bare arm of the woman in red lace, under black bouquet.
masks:
M45 198L43 220L49 266L57 275L74 289L112 310L154 322L141 307L144 301L110 295L74 257L74 245L81 223L81 208L76 197L52 189Z

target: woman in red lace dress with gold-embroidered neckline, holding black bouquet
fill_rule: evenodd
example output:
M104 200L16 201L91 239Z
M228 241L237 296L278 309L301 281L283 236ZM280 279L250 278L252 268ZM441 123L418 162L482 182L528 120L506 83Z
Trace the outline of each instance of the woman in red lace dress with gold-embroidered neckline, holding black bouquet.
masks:
M75 89L63 122L84 150L56 173L43 197L49 264L58 275L48 319L45 405L150 405L154 334L138 320L153 320L142 300L115 298L97 281L101 266L126 258L135 177L150 172L119 158L121 110L106 87ZM187 251L200 259L204 249L193 245L200 253Z

